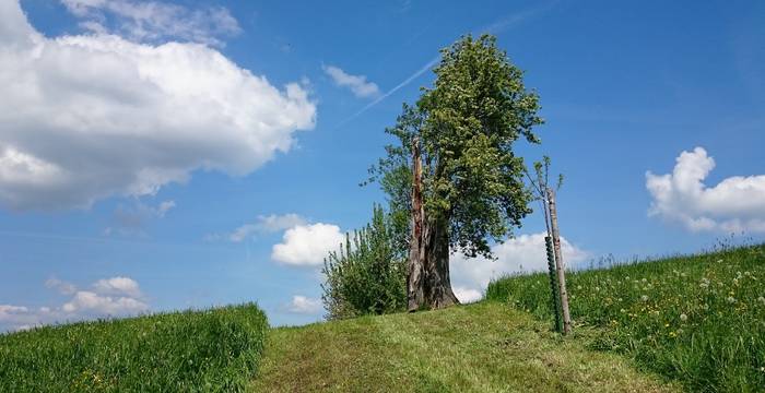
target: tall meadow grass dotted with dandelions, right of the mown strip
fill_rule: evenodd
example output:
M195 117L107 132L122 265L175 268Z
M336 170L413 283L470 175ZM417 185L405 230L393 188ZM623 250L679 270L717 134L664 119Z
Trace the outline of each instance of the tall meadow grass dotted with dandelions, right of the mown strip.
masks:
M546 275L506 277L489 299L552 320ZM567 275L591 345L626 354L693 392L765 391L765 246Z

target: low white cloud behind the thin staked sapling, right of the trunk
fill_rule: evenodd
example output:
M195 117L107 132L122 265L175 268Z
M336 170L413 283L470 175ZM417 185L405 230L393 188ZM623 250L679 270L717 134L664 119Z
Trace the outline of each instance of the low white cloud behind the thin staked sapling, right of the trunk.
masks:
M450 272L455 290L460 288L466 297L483 290L492 278L506 274L542 272L548 270L544 246L546 234L520 235L492 248L495 261L482 257L467 259L461 254L451 257ZM574 266L588 258L588 252L561 238L561 252L566 266ZM473 293L469 293L473 290ZM456 293L457 295L457 293ZM459 295L458 295L459 298Z

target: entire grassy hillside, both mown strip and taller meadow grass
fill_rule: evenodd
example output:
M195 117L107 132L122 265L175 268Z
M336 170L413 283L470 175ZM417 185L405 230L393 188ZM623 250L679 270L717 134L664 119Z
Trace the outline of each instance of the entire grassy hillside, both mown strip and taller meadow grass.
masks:
M568 276L446 310L268 329L254 305L0 335L0 392L765 391L765 246Z

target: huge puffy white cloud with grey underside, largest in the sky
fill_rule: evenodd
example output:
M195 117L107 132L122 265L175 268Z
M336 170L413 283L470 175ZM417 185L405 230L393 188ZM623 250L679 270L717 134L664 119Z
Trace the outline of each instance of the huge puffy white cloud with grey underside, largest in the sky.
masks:
M316 105L299 84L280 91L209 47L47 38L17 1L3 1L0 19L7 207L154 194L199 169L244 176L315 124Z

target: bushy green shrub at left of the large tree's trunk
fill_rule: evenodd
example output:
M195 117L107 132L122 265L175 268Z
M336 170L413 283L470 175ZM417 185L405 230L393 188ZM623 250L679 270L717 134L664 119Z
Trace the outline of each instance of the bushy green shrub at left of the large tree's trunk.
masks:
M374 206L372 223L346 235L340 252L325 259L321 296L329 319L402 311L407 305L407 260L395 238L400 217Z

